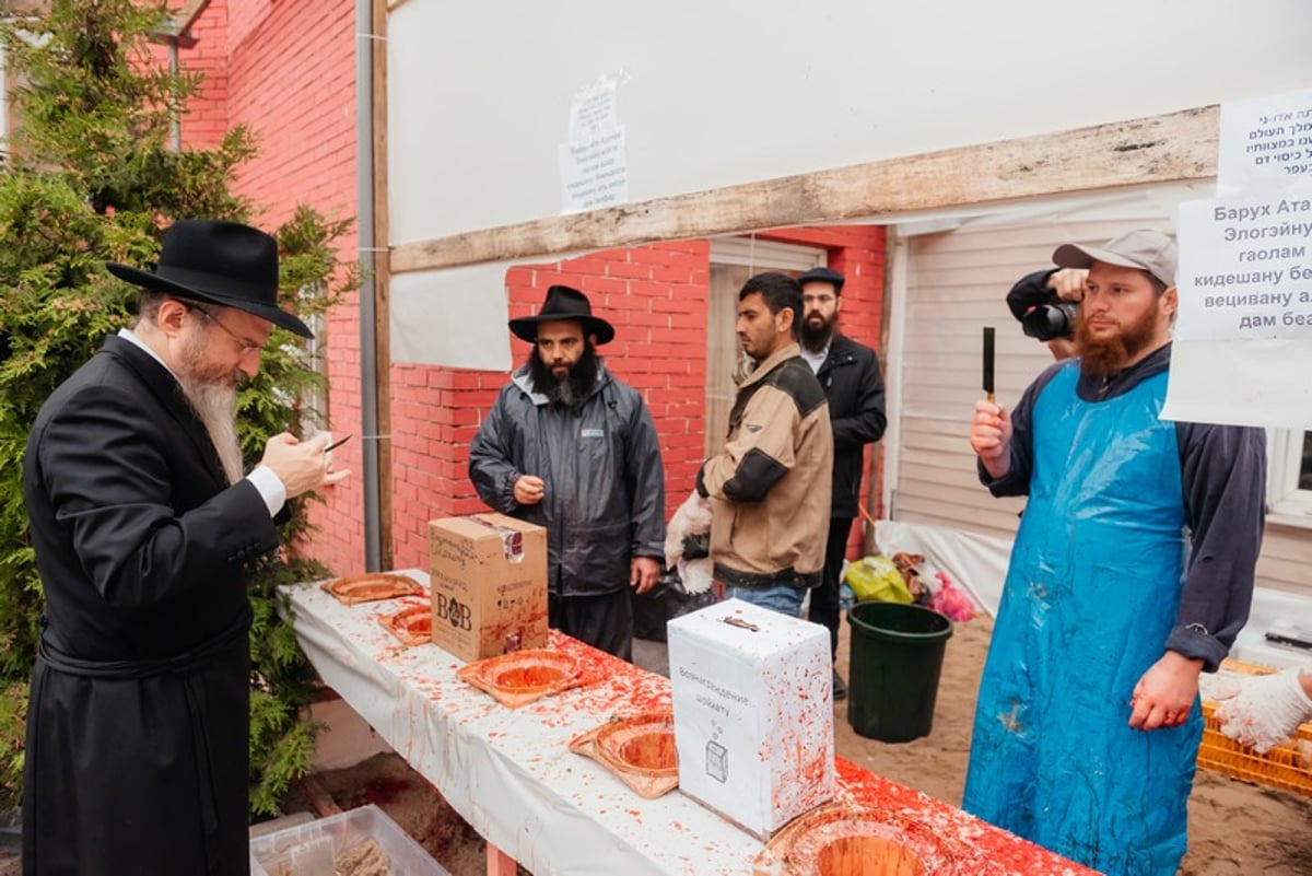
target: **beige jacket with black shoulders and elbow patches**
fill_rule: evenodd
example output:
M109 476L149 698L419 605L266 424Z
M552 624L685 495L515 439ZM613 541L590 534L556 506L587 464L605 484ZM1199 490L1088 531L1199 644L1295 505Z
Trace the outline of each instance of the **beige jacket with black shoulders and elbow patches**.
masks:
M833 431L811 366L790 344L739 387L724 450L697 489L715 500L711 560L732 586L813 587L824 573Z

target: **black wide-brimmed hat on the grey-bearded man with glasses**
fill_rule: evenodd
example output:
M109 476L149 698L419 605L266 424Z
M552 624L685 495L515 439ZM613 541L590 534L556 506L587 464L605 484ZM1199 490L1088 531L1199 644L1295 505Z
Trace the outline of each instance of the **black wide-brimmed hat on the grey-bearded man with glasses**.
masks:
M300 337L315 336L278 307L278 241L239 222L178 219L164 232L155 273L113 261L105 268L136 286L235 307Z

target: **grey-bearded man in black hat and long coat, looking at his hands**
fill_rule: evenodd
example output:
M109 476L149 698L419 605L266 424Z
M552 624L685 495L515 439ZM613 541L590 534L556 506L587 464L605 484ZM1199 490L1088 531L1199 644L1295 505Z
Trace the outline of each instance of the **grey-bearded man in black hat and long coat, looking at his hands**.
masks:
M184 219L138 317L41 408L22 485L45 589L28 708L26 876L245 875L247 559L290 497L336 484L327 438L272 438L243 476L237 383L278 308L278 250Z

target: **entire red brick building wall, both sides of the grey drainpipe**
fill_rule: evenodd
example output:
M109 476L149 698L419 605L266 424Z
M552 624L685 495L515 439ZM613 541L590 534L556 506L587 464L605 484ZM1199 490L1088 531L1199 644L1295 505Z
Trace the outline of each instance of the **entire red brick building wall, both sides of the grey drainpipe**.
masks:
M181 1L181 0L180 0ZM298 202L331 218L356 212L354 5L329 0L214 0L198 20L194 49L182 64L203 68L203 100L184 121L184 140L210 144L226 126L249 125L258 156L235 188L257 205L255 222L276 228ZM164 55L161 55L163 58ZM883 302L884 235L869 226L815 227L762 237L823 247L848 275L845 330L878 346ZM340 256L354 258L356 237ZM687 241L615 249L506 275L510 315L534 312L555 282L583 289L615 324L602 349L619 379L643 393L656 421L666 472L666 511L691 489L701 463L706 384L706 313L710 245ZM349 479L312 511L320 531L310 555L346 574L363 567L358 296L329 315L329 417L335 431L357 441L336 451ZM516 365L527 345L512 341ZM483 508L468 481L468 446L506 372L398 365L391 370L390 435L394 565L428 565L428 521ZM719 428L716 425L716 428ZM875 509L871 509L875 510Z

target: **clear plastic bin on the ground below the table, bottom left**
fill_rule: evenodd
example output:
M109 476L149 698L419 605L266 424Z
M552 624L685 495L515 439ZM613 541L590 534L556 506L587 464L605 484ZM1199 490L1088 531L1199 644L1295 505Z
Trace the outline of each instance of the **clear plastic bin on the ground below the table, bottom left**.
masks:
M392 876L450 876L395 821L370 804L251 841L251 876L333 876L333 860L373 839Z

